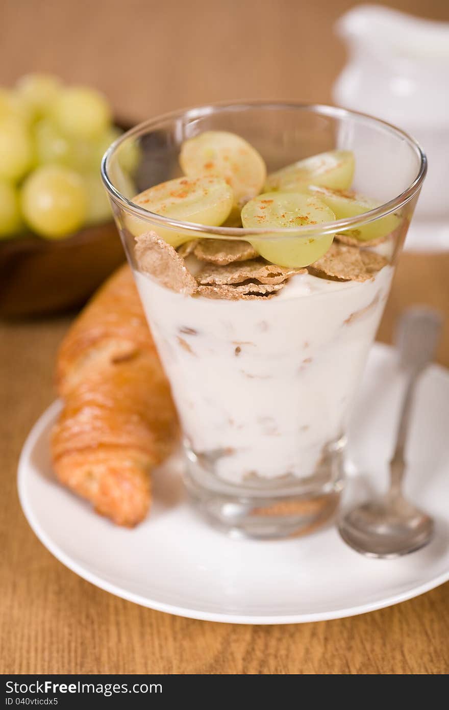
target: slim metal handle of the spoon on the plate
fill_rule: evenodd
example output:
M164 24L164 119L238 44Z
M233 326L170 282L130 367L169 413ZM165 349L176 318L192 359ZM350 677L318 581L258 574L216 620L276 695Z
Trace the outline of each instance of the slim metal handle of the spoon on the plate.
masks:
M409 433L411 406L416 382L423 369L433 360L443 319L428 308L406 310L399 322L397 346L401 365L409 374L396 435L396 447L390 461L390 496L397 496L406 470L405 448Z

